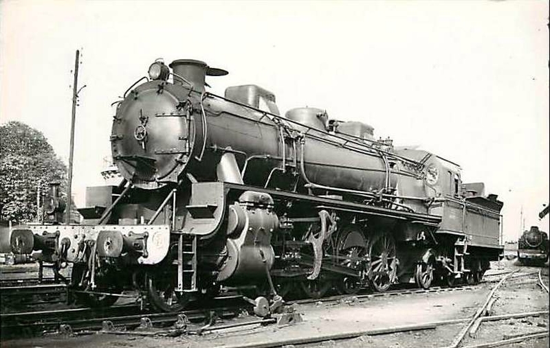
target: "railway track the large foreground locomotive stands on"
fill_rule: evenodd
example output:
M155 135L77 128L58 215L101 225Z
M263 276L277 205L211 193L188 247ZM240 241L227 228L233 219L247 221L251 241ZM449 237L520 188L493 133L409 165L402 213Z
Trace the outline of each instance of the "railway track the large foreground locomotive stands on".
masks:
M514 277L527 277L536 275L536 272L523 272L520 274L509 274L509 272L499 273L494 275L502 279L507 277L514 279ZM483 283L492 283L494 279L488 279ZM64 286L59 284L37 284L37 285L25 285L19 288L14 287L8 291L13 291L14 294L21 292L32 291L32 289L43 290L53 288L57 290L66 291ZM415 294L434 294L445 292L460 292L475 290L476 286L459 285L452 288L448 287L432 287L428 290L419 288L412 288L408 284L402 285L400 289L391 290L388 292L369 292L356 295L337 295L331 297L325 297L322 299L298 299L294 301L287 301L287 305L293 304L308 304L308 303L347 303L368 301L377 297L394 297L403 295L415 295ZM9 287L5 287L9 289ZM229 301L229 302L228 302ZM182 313L170 313L170 314L153 314L144 312L140 305L118 305L111 308L104 308L102 310L91 308L73 308L63 310L46 310L46 311L33 311L33 312L14 312L14 313L2 313L0 314L1 320L1 336L36 336L37 334L45 334L51 332L89 332L103 330L104 332L119 332L125 329L132 329L135 327L143 326L143 321L146 320L148 329L154 327L166 327L167 325L173 325L181 321L181 316L178 314L184 314L184 317L192 321L201 321L208 316L218 316L220 318L227 318L231 316L237 316L243 310L250 310L251 305L243 301L241 296L225 296L214 298L213 301L208 303L195 301L190 303L189 310ZM144 319L146 318L146 319ZM262 322L263 323L263 322ZM259 324L262 324L259 323ZM241 324L236 324L241 325ZM179 325L181 326L181 325ZM211 324L212 326L212 324ZM124 327L124 330L116 329L117 327ZM212 326L215 327L215 326ZM177 333L181 327L176 325L171 330L172 333ZM170 332L170 330L165 333ZM126 332L129 333L129 332ZM139 334L139 333L135 333ZM141 334L143 332L141 331Z

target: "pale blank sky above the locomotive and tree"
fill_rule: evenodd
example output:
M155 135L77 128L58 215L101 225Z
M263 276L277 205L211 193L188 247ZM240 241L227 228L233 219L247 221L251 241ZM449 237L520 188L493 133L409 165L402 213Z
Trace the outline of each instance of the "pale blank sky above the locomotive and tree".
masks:
M74 55L82 64L73 192L101 185L113 109L156 58L230 72L298 106L362 121L483 181L505 240L549 231L547 1L0 1L0 123L41 130L69 157ZM1 141L1 140L0 140Z

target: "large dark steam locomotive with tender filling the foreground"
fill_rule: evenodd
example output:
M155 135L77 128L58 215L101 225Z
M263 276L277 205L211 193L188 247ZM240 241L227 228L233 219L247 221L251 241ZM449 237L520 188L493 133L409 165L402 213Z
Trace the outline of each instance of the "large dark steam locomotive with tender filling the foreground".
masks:
M87 188L83 224L14 229L12 251L72 264L83 303L137 289L162 312L221 286L281 301L476 283L503 252L503 202L456 163L321 108L282 115L256 85L206 91L227 73L153 62L115 104L120 185Z

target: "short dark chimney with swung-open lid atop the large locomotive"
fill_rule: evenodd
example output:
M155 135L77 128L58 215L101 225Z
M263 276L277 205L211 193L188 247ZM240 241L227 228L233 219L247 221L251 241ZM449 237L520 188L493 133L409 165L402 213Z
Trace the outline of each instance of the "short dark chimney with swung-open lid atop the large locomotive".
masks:
M224 76L228 72L223 69L211 68L205 62L194 59L178 59L170 63L174 73L174 83L186 86L190 82L195 91L203 92L205 77ZM182 80L184 78L185 80Z

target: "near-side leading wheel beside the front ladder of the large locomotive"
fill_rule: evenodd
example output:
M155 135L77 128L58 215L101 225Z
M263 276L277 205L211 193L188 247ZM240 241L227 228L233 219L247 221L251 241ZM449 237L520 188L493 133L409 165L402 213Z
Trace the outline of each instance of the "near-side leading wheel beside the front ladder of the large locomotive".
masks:
M176 292L177 276L157 275L148 272L145 278L147 297L151 306L158 312L180 312L189 301L185 292Z

